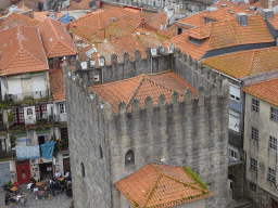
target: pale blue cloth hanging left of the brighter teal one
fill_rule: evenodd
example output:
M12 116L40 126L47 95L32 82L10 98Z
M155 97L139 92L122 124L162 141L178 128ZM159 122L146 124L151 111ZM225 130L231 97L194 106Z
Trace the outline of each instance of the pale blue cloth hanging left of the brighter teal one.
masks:
M37 146L15 146L17 159L39 158L39 145Z

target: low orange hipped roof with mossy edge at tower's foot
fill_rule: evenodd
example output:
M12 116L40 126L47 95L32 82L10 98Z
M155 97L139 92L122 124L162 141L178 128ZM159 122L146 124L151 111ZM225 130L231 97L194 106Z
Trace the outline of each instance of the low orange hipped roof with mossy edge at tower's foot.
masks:
M182 167L150 162L115 183L132 207L174 207L213 196Z

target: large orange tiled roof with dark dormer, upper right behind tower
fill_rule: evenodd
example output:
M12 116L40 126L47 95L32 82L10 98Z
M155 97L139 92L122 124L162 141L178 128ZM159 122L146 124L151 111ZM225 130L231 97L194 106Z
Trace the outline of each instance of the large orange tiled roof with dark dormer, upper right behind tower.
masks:
M189 37L204 39L200 44L192 43ZM188 29L172 38L173 42L193 58L200 60L207 51L240 44L274 42L271 34L261 15L248 17L248 26L241 27L236 17L229 21L208 23Z

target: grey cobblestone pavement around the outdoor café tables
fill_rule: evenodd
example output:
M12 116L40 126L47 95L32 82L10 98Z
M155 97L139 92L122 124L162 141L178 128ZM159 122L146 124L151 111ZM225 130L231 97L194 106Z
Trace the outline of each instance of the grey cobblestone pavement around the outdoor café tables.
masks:
M0 191L0 198L1 198L1 204L0 207L11 207L11 205L4 205L4 196L5 193L3 188L1 187ZM26 190L26 185L21 185L20 190L17 191L17 194L25 194L27 198L27 203L25 206L21 205L21 202L15 202L15 204L12 207L29 207L29 208L70 208L71 203L73 198L67 197L64 193L62 195L58 194L55 197L52 199L49 199L48 196L42 199L39 197L39 199L35 198L34 193L29 193L28 190Z

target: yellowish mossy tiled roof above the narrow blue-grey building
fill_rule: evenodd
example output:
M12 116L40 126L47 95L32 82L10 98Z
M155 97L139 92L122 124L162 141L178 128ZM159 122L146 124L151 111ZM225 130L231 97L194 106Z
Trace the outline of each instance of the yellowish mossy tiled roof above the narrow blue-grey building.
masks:
M257 49L208 57L202 63L237 79L277 70L278 48Z

